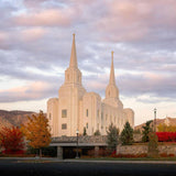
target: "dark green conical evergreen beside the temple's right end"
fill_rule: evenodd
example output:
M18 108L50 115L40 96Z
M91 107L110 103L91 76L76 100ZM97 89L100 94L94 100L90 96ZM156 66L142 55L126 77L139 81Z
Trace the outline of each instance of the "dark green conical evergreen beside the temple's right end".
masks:
M120 135L120 141L122 145L131 145L133 143L133 129L129 122L124 124L124 129Z

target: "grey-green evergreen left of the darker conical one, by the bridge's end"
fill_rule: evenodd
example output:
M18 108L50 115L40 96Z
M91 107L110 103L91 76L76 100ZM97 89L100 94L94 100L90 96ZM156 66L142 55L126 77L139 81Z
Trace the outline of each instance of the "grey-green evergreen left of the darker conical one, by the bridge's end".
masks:
M107 131L107 144L110 151L116 151L118 145L119 130L112 123L109 125Z

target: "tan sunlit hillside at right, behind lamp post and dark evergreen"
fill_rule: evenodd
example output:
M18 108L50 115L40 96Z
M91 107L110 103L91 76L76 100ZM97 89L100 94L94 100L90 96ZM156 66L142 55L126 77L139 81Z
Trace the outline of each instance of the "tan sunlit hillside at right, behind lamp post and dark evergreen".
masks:
M160 125L161 123L165 123L166 125L176 125L176 118L169 118L166 117L165 119L156 119L156 127ZM142 131L142 127L144 127L145 123L139 124L134 127L134 130L140 130Z

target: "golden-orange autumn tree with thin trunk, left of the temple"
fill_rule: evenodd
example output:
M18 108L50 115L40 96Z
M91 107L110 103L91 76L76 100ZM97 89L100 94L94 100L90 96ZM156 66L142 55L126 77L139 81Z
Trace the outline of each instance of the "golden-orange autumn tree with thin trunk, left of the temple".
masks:
M29 122L22 125L22 130L29 145L40 150L40 156L42 156L42 147L46 147L51 143L47 118L40 111L38 116L29 117Z

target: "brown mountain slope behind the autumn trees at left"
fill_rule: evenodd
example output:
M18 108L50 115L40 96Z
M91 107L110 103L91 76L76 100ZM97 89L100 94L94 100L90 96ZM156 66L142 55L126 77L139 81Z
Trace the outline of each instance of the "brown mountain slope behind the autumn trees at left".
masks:
M36 112L0 110L0 130L2 127L20 127L20 124L26 123L28 117L31 117L32 114L36 114Z

